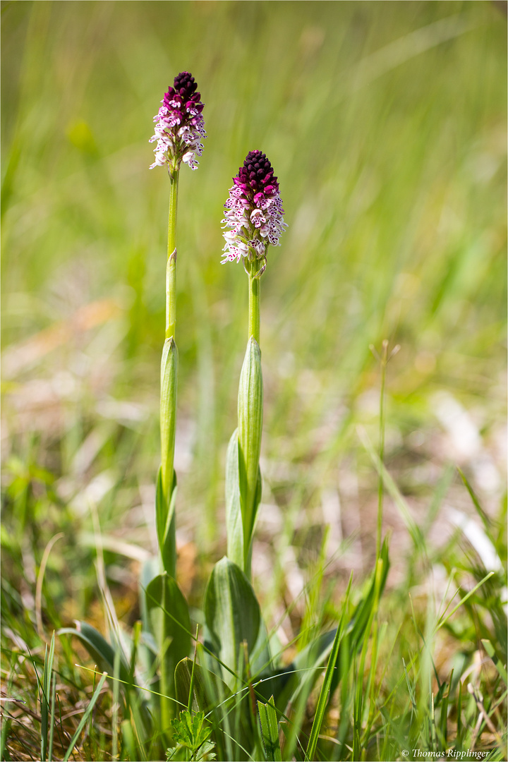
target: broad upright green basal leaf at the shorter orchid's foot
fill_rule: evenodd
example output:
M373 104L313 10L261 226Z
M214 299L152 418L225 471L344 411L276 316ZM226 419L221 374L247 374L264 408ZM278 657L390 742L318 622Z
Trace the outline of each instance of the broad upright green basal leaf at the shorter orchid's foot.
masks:
M247 642L248 654L251 654L259 636L261 614L248 578L226 557L213 568L206 588L204 612L213 650L241 677L243 643ZM238 680L231 673L223 677L232 690L238 687Z

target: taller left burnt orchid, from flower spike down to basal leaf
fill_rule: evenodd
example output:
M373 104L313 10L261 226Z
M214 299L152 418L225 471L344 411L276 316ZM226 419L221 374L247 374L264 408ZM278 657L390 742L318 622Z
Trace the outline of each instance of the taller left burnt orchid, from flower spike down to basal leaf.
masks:
M167 730L174 716L171 695L174 688L174 668L187 655L190 646L190 620L187 603L176 582L176 495L177 477L174 472L174 443L177 418L178 350L177 325L177 198L178 178L182 162L197 168L196 156L203 152L201 139L206 137L203 104L197 85L189 72L174 78L161 108L154 118L156 166L167 165L170 178L168 213L168 261L166 264L166 331L161 358L161 468L158 472L155 498L158 565L146 571L147 610L155 607L156 642L164 657L160 665L160 716ZM152 601L152 603L150 603ZM167 613L170 611L171 613ZM175 627L177 628L175 630Z

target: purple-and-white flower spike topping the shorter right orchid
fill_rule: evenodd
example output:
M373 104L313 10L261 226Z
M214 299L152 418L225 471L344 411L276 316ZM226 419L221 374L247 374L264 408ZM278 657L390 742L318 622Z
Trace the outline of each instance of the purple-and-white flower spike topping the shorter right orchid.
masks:
M245 267L246 261L260 260L259 277L267 266L268 245L280 246L280 234L287 227L279 183L267 155L260 151L248 152L233 183L224 204L222 264L243 258Z

